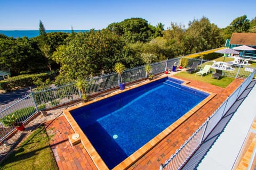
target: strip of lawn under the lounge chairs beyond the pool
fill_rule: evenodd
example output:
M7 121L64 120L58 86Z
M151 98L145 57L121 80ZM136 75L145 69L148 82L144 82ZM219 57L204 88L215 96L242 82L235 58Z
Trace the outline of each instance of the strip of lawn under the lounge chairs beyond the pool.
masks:
M203 75L203 77L201 77L201 75L196 75L196 73L193 74L189 74L186 71L182 71L180 73L175 74L175 76L180 77L180 78L186 78L186 79L193 79L199 82L205 82L205 83L209 83L215 86L219 86L222 88L225 88L228 86L228 84L230 84L233 80L235 80L234 78L230 78L230 77L223 77L221 79L214 79L212 77L212 73L207 74L207 75Z

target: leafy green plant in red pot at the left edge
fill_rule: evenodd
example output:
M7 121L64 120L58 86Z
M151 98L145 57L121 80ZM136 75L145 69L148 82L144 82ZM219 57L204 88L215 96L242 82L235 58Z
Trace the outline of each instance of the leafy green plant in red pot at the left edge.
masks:
M15 126L17 130L23 131L25 130L25 126L22 122L18 121L18 117L15 114L10 114L4 116L1 120L5 126Z

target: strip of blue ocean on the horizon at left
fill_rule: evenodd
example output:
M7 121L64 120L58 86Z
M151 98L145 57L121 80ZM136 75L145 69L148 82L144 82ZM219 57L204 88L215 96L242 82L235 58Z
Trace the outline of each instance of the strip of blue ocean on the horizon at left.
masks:
M89 30L74 30L75 32L86 32ZM71 33L71 30L45 30L45 32L69 32ZM0 33L7 37L13 37L13 38L22 38L24 36L28 38L33 38L36 36L39 36L39 30L0 30Z

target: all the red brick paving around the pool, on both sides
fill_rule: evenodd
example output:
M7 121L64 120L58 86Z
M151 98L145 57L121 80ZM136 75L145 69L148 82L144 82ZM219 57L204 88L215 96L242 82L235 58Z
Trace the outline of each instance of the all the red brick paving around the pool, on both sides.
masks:
M189 86L214 92L217 95L194 115L190 116L185 123L181 124L171 134L167 135L157 146L131 165L129 169L159 169L160 164L170 158L175 150L205 122L206 118L221 105L243 80L236 79L226 88L193 80L187 81L190 81ZM70 146L68 135L73 134L74 131L71 129L71 126L64 116L46 122L45 127L47 133L49 133L50 136L53 135L50 144L59 169L97 169L81 143L73 147Z

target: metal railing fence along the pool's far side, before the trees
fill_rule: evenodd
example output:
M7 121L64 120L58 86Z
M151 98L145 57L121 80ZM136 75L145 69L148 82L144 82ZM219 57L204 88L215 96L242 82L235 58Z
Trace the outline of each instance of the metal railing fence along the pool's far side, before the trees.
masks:
M186 56L183 56L150 64L150 74L158 75L164 73L166 70L172 70L174 65L182 65L183 68L189 68L194 62L198 63L198 70L201 69L205 64L211 65L213 63L212 61L187 58ZM145 71L145 66L146 65L142 65L132 69L126 69L122 73L123 82L132 83L146 79L147 74ZM246 79L254 70L255 69L250 67L244 67L238 68L234 72L226 71L224 74L227 77ZM210 71L214 72L213 69ZM120 78L117 73L110 73L86 79L86 81L86 95L90 97L91 95L97 95L106 90L118 88ZM40 90L31 89L30 92L25 96L0 107L0 142L4 141L5 138L15 130L14 125L7 126L1 121L8 118L8 116L14 114L18 117L19 122L26 123L39 111L51 109L52 107L81 99L81 91L77 89L75 83L64 84L61 86L51 86L49 88Z

